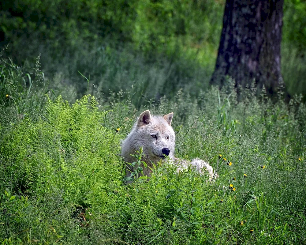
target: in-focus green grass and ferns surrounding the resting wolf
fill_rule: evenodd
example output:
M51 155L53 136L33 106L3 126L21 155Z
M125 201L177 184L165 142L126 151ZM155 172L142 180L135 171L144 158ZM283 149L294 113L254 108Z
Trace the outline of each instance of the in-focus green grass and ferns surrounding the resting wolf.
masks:
M229 81L196 99L179 90L141 107L135 90L69 104L38 66L34 80L8 60L1 68L1 244L306 243L300 96L286 104L279 92L272 103L251 88L238 101ZM123 184L120 140L144 109L174 112L176 156L207 160L215 183L165 163L148 181Z

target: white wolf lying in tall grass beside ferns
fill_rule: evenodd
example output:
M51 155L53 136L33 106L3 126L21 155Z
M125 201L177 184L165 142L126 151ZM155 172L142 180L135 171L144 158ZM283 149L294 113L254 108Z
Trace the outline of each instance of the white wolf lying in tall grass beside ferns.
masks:
M135 151L142 146L145 156L141 160L147 163L148 167L152 168L152 163L157 164L161 159L164 160L166 155L169 156L170 162L177 165L177 171L188 168L191 164L201 174L208 175L210 181L216 178L217 174L207 162L198 158L189 162L174 157L175 133L171 127L172 118L173 112L164 116L151 116L148 110L141 113L132 131L121 145L125 162L136 161L131 154L135 154ZM151 175L150 168L140 167L143 168L144 175ZM126 164L126 177L129 177L133 171L133 168Z

